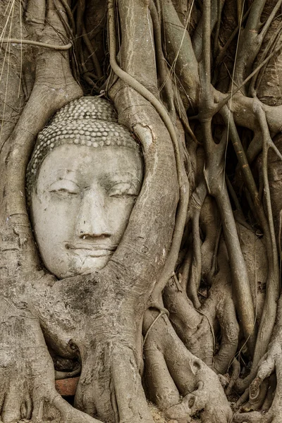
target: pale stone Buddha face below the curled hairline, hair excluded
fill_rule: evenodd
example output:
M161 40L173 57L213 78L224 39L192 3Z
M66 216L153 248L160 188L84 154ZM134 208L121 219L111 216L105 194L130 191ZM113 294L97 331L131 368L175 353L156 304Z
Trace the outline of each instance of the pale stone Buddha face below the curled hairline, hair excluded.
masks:
M42 260L58 278L102 269L128 224L142 159L127 147L61 145L47 154L31 195Z

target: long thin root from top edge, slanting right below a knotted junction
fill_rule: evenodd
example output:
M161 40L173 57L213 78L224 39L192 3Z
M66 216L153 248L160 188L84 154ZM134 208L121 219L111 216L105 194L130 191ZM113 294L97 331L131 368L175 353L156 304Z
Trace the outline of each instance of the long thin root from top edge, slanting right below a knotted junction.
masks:
M207 119L207 114L214 109L214 99L211 96L211 40L209 28L211 23L210 0L204 2L203 16L203 42L202 42L202 102L199 108L200 121L204 134L204 148L206 164L204 176L209 193L215 198L221 214L223 235L226 241L228 257L230 260L232 282L235 289L236 303L239 319L243 326L243 333L251 354L255 350L255 311L252 304L252 293L245 260L240 248L237 228L235 226L233 211L224 181L223 157L226 151L226 141L221 140L216 145L212 136L212 118ZM221 167L219 167L221 164ZM246 307L247 305L247 307Z

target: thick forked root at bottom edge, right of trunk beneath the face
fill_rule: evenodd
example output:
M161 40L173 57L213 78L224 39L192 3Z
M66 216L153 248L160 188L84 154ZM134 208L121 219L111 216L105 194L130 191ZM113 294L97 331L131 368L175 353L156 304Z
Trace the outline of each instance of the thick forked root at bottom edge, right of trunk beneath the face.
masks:
M145 330L154 318L154 312L146 312ZM168 317L155 321L147 336L144 354L149 396L167 417L186 423L200 412L202 422L230 421L231 408L218 376L185 348Z

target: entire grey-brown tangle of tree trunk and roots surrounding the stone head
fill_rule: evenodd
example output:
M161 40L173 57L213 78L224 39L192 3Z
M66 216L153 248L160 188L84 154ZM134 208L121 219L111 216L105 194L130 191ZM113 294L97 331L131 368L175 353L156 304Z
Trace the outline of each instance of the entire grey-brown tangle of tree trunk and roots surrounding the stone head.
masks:
M281 4L1 1L1 422L281 422ZM145 178L106 267L56 280L25 171L89 94Z

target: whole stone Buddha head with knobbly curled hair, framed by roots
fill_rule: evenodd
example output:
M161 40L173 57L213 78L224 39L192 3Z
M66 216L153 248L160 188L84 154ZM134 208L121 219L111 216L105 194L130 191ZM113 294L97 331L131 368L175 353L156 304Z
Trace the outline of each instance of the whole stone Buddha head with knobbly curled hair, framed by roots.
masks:
M82 97L37 137L27 200L46 268L58 278L102 269L128 224L143 177L142 154L113 106Z

